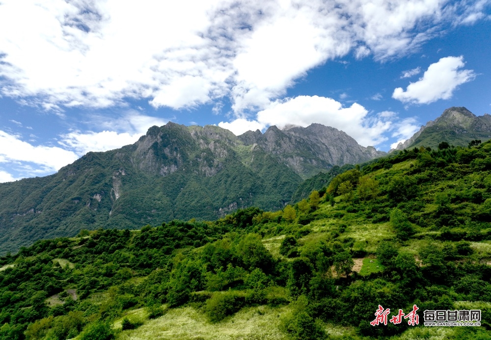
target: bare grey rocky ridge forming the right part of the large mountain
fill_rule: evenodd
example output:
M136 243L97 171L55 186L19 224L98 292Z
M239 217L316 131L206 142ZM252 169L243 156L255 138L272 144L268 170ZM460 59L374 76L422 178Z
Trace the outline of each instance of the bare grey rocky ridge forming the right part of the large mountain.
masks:
M288 130L271 126L264 135L259 130L247 131L239 139L278 156L303 178L335 165L362 163L386 154L373 146L361 146L345 132L322 124Z

